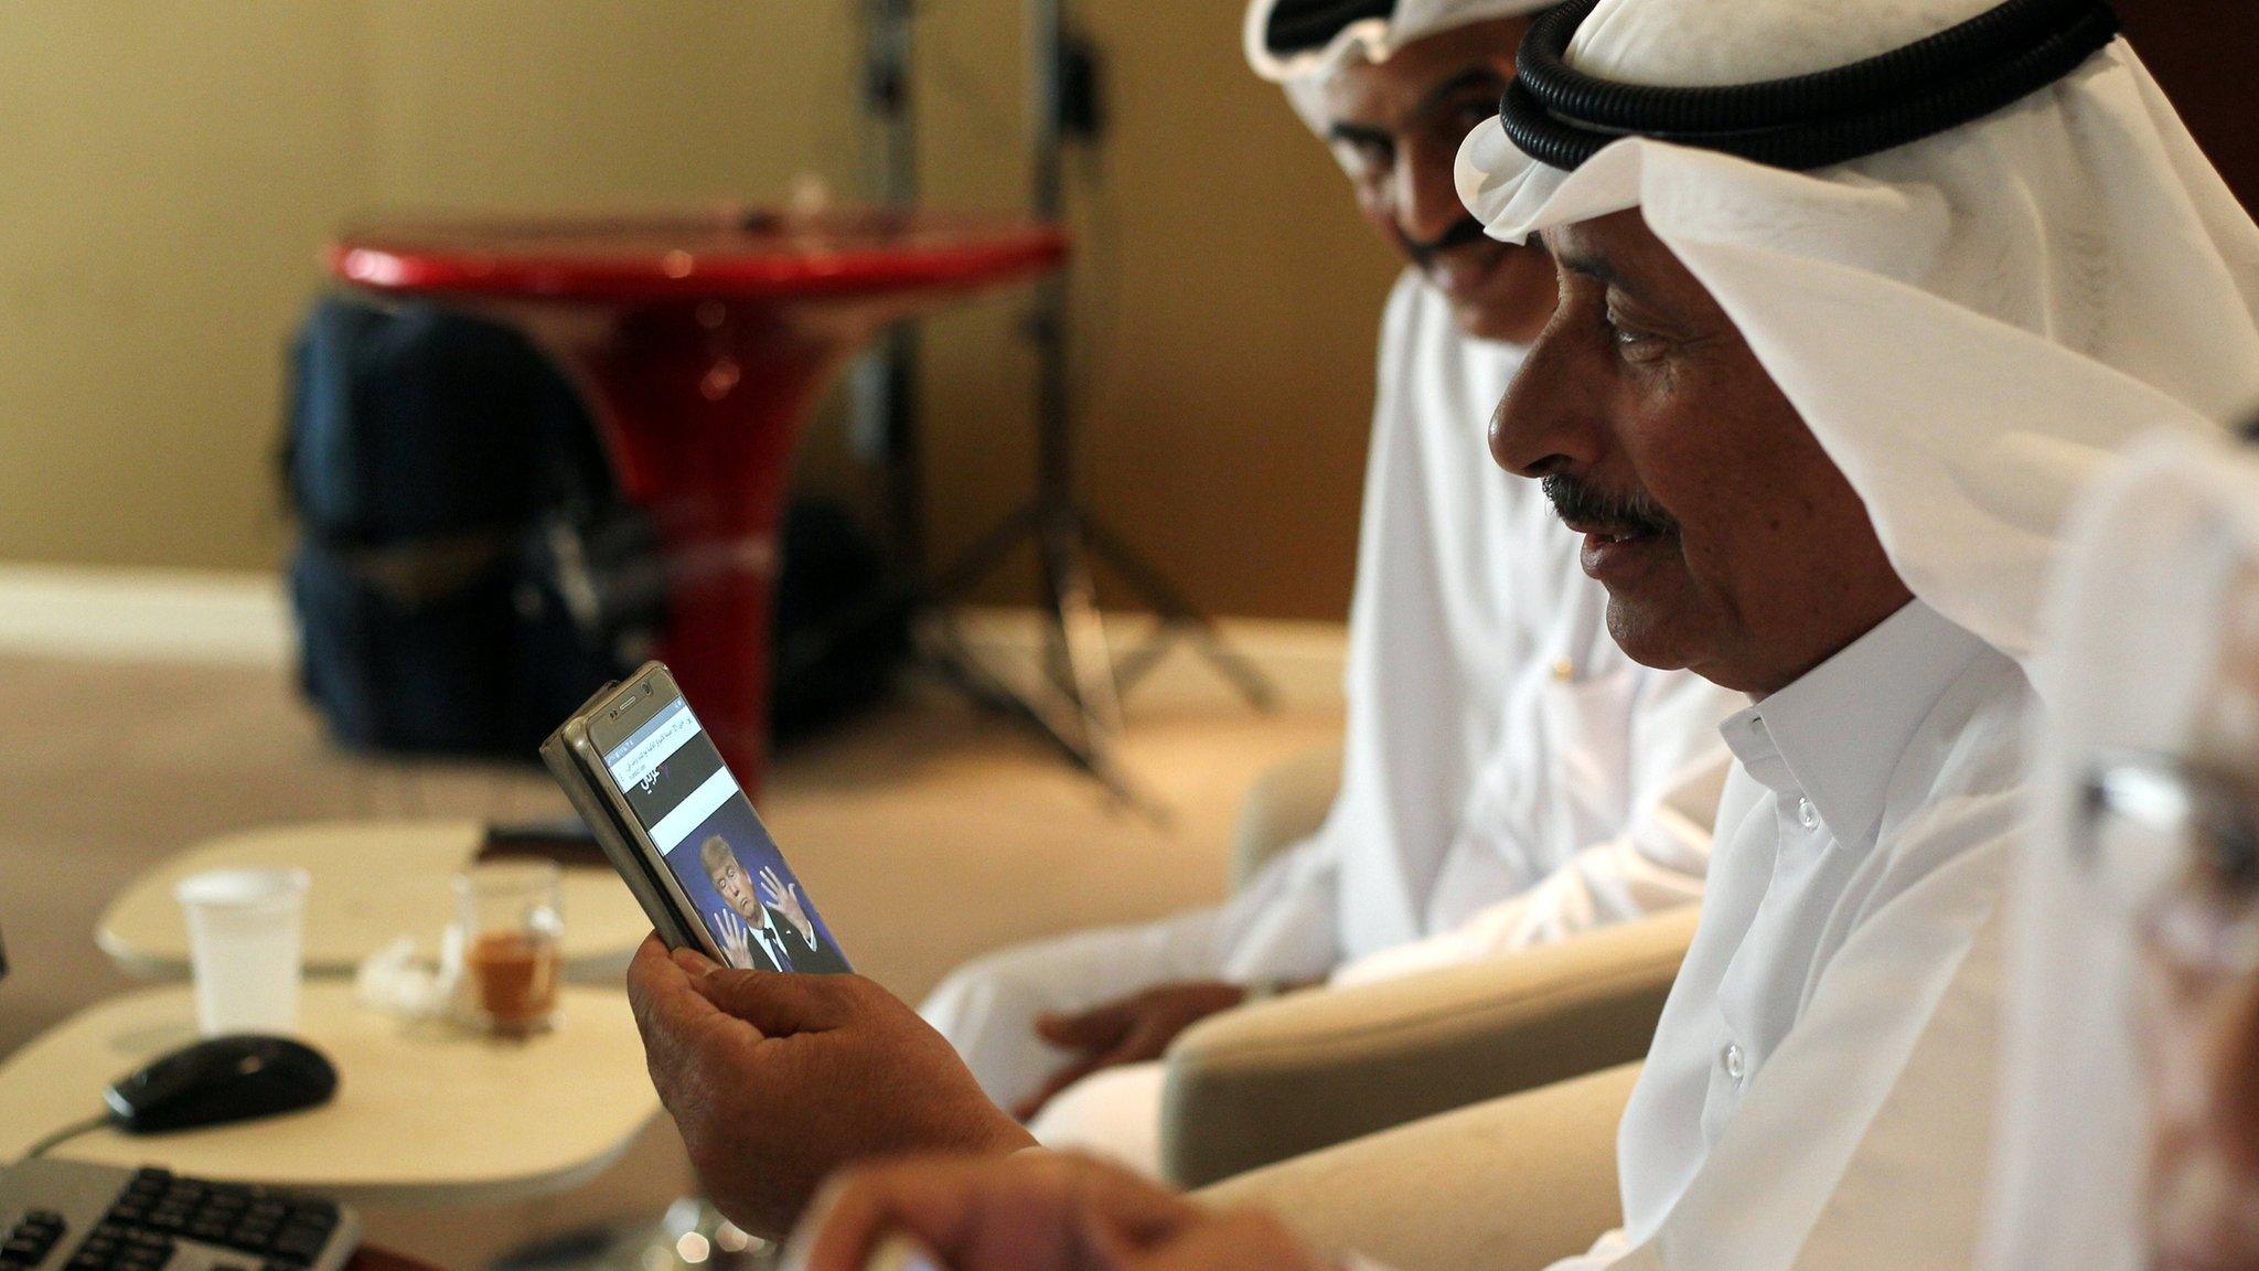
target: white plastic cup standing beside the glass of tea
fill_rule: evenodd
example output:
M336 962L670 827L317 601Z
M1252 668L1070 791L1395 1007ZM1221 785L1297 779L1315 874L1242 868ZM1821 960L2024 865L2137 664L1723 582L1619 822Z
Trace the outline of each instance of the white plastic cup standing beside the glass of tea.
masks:
M174 884L197 968L197 1029L208 1036L298 1027L305 948L303 868L219 868Z

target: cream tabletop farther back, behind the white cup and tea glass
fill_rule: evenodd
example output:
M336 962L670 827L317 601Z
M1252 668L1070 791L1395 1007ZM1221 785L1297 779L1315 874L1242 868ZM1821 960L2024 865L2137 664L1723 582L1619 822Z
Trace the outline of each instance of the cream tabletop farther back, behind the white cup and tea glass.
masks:
M305 868L307 975L352 975L400 936L431 952L454 918L452 877L486 841L483 821L330 821L276 825L197 844L136 877L95 925L95 943L131 975L187 975L187 925L172 884L208 868ZM612 982L651 918L612 871L569 866L560 887L565 975Z

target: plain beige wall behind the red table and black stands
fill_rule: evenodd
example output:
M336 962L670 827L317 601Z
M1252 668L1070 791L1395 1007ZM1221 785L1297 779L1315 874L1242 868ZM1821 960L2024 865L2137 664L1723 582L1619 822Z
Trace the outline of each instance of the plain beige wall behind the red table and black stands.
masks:
M926 183L1021 197L1014 0L924 5ZM856 0L20 0L0 7L0 559L264 568L280 351L330 228L854 185ZM1227 613L1340 615L1392 262L1238 2L1089 2L1093 504ZM1030 464L1014 308L933 323L940 547ZM838 482L836 436L809 443ZM1477 457L1480 459L1480 457ZM1010 595L1001 590L996 595Z

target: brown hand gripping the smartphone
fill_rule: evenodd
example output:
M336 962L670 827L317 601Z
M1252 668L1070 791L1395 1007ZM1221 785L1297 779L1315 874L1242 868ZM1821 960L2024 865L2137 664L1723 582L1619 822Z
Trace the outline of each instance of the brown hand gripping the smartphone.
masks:
M1030 1147L917 1011L856 975L723 970L657 936L628 1002L707 1196L777 1237L840 1165Z

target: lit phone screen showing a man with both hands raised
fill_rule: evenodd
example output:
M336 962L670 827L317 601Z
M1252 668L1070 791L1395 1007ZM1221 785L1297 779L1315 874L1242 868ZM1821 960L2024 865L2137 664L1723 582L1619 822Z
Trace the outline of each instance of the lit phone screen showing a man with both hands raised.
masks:
M603 755L603 767L723 961L755 970L849 970L687 701L662 706Z

